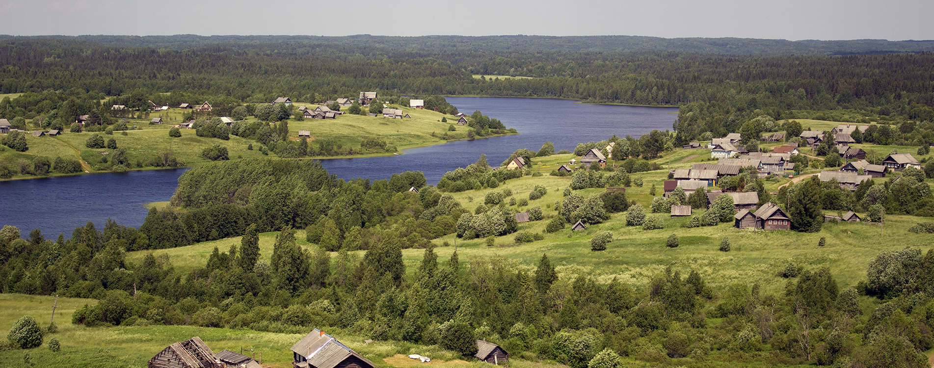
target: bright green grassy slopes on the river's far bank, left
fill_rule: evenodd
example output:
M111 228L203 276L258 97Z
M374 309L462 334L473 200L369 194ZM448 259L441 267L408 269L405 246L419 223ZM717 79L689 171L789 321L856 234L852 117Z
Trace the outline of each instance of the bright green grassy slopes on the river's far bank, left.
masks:
M296 104L298 106L317 105ZM398 106L397 106L398 107ZM402 107L403 111L411 115L412 119L384 119L382 117L371 118L360 115L342 115L335 120L311 120L289 121L290 140L299 140L298 132L300 130L310 131L311 139L309 144L315 144L316 139L329 138L344 146L359 148L361 141L368 137L378 137L389 145L396 146L397 149L409 149L414 147L431 146L446 142L440 136L448 134L453 139L466 139L466 126L456 125L456 118L446 116L445 114L423 110L417 108ZM26 143L29 149L25 152L17 152L13 149L0 151L0 161L7 163L17 163L21 160L32 161L35 157L44 156L54 160L56 157L68 159L79 158L82 161L84 170L87 171L106 171L106 165L103 165L103 159L109 158L107 154L112 153L113 149L88 149L85 147L85 141L92 134L102 134L106 139L115 138L119 148L128 150L130 163L133 163L133 169L151 168L146 163L161 152L171 152L186 165L197 165L208 162L201 156L202 151L213 145L226 147L231 160L249 159L263 157L260 153L260 144L251 138L241 138L235 135L230 136L230 140L221 140L218 138L207 138L197 136L194 130L181 130L181 137L170 137L168 130L172 125L182 122L181 115L184 110L173 109L166 112L152 113L151 118L163 118L165 121L161 125L149 125L146 119L130 119L129 126L136 126L139 130L115 132L113 135L103 133L68 133L67 128L60 136L42 136L35 137L31 134L26 135ZM447 122L441 122L447 118ZM253 121L253 119L248 119ZM455 131L449 132L447 129L451 124L455 124ZM437 136L432 136L436 134ZM249 145L253 149L248 149ZM270 152L275 157L275 153ZM367 154L361 156L389 155L389 153ZM325 157L316 157L325 158ZM137 164L142 163L142 167ZM56 175L52 173L52 175ZM33 177L30 175L18 175L14 178Z

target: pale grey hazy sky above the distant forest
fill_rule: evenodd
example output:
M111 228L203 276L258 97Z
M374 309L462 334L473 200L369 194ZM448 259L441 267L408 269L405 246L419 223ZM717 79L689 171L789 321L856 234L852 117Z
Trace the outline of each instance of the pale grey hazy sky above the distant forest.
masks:
M0 0L4 35L934 39L931 0Z

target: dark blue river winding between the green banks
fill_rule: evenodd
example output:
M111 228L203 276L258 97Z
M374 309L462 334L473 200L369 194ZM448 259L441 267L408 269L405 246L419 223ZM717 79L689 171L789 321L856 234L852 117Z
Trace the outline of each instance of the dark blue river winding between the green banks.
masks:
M516 149L538 150L545 142L554 143L558 151L613 134L638 137L655 129L672 129L678 111L677 107L585 105L538 98L447 97L447 101L466 114L480 110L520 134L405 149L400 156L324 160L323 166L347 180L421 171L433 185L446 172L474 163L481 153L495 165ZM40 229L47 238L60 233L71 237L88 221L100 229L107 218L138 227L148 212L143 205L168 201L186 170L0 181L0 224L18 227L23 236Z

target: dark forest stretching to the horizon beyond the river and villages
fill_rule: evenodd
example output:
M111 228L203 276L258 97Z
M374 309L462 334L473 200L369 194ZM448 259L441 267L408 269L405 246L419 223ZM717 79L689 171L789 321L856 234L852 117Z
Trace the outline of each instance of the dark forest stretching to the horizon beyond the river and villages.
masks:
M185 92L241 103L281 95L317 102L361 91L560 97L682 106L672 126L681 133L679 142L706 132L736 132L743 122L763 115L783 120L823 114L828 120L898 125L912 121L905 127L909 131L927 129L921 122L934 120L934 53L925 49L934 41L798 41L828 48L849 45L845 53L874 53L867 51L870 44L916 47L878 55L796 56L777 46L763 46L767 50L761 52L775 55L688 52L681 50L695 49L672 46L687 39L651 37L577 37L582 42L572 48L573 38L10 36L0 37L0 92ZM658 49L667 50L621 46L630 42L650 49L652 39ZM734 40L694 41L720 42L722 47L710 50L727 52L722 48L729 49ZM745 45L738 49L790 42L735 41ZM922 52L901 52L917 50ZM45 113L37 107L0 104L0 116Z

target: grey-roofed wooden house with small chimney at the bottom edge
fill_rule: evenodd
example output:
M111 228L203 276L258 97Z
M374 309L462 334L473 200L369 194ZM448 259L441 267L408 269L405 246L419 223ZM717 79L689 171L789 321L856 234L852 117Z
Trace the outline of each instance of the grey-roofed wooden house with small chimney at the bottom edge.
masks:
M293 368L375 367L373 361L368 361L332 335L318 329L304 335L290 350Z

